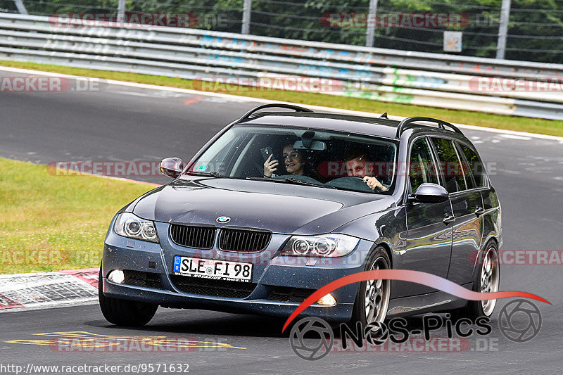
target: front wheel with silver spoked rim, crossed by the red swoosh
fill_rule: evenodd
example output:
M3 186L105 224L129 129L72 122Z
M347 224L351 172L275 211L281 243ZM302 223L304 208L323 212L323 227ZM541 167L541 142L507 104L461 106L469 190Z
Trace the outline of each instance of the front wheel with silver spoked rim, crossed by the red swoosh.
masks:
M391 260L389 260L386 250L381 246L376 248L365 262L365 271L374 269L391 269ZM362 326L367 326L367 324L376 321L384 322L390 295L391 280L361 281L350 323L355 325L356 322L361 322Z

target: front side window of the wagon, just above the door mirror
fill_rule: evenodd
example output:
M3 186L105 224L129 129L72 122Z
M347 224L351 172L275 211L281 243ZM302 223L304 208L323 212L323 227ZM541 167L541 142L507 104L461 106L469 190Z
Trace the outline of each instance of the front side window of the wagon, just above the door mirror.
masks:
M436 175L436 165L434 165L430 147L424 138L418 139L412 144L409 177L412 192L416 191L425 182L440 184Z

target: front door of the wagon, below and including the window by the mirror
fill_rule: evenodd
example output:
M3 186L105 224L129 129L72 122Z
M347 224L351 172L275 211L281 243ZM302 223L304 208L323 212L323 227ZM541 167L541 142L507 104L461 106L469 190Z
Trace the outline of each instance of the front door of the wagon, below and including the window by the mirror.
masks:
M425 182L440 184L436 162L426 137L415 139L408 154L408 195ZM452 217L450 201L441 203L405 203L407 233L405 250L400 251L400 268L448 276L452 248L452 225L444 218ZM396 295L419 295L435 289L412 283L393 284Z

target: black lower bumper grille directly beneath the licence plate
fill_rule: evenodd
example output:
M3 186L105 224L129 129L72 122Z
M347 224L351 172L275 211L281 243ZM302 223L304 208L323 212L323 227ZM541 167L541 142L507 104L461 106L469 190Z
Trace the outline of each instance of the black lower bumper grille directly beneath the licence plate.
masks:
M211 295L213 297L245 298L251 295L256 288L256 284L240 281L202 279L179 275L170 275L170 279L172 284L184 293Z

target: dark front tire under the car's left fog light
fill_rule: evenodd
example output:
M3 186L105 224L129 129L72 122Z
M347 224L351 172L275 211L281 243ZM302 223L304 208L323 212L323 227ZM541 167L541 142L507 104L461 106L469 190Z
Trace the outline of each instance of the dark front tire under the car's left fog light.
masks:
M98 279L98 298L103 317L116 326L144 326L153 319L158 305L152 303L120 300L103 295L103 282L100 268Z

